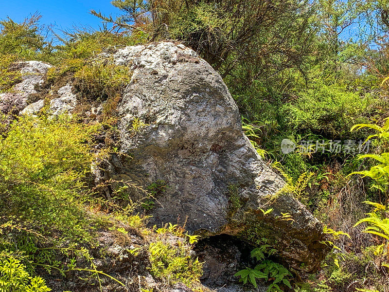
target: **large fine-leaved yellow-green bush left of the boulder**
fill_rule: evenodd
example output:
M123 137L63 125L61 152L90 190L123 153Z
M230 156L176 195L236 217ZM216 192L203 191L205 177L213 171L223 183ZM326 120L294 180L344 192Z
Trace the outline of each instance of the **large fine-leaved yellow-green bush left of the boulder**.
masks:
M0 219L41 234L85 236L76 198L86 188L95 131L67 116L19 118L0 138Z

